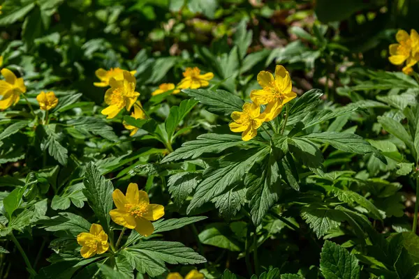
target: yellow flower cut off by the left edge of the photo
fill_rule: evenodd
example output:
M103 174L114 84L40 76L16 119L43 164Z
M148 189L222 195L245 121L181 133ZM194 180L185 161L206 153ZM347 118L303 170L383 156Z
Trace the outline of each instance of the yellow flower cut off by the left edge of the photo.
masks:
M6 68L1 70L4 80L0 80L0 110L6 110L20 100L20 94L26 92L23 78L17 78L15 74Z

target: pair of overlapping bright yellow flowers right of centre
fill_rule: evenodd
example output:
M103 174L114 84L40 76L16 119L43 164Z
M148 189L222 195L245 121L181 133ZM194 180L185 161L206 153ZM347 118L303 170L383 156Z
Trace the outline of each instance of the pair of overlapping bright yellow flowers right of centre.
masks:
M275 77L267 72L258 74L258 83L262 89L253 90L250 99L253 103L245 103L242 112L233 112L233 122L229 124L230 130L235 133L242 132L242 140L248 141L258 134L258 128L263 122L268 122L277 117L282 107L297 96L292 91L291 77L284 66L277 65ZM265 105L265 110L260 113L260 105Z

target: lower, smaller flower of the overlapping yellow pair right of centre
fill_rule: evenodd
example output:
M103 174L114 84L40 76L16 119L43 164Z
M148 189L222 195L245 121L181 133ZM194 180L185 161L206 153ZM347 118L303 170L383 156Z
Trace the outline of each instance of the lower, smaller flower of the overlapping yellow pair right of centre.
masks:
M265 121L266 114L260 113L260 107L256 103L245 103L243 105L243 112L233 112L230 126L232 132L242 133L242 140L248 141L258 135L258 128L262 126Z

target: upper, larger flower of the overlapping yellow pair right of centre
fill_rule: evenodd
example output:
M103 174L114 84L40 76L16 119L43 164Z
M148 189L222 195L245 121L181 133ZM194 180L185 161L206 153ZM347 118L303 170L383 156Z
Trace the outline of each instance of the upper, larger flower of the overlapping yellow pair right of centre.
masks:
M263 89L253 90L251 100L257 105L266 105L265 121L271 121L281 113L282 107L297 96L293 91L291 77L284 66L277 65L275 77L266 71L258 74L258 83Z

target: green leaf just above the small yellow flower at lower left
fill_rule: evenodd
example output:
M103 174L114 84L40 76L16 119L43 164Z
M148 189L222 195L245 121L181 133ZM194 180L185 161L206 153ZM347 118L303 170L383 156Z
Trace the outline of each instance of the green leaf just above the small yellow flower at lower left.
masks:
M80 232L89 232L91 224L82 216L69 212L58 213L59 216L43 221L43 226L48 232L66 231L73 236Z

